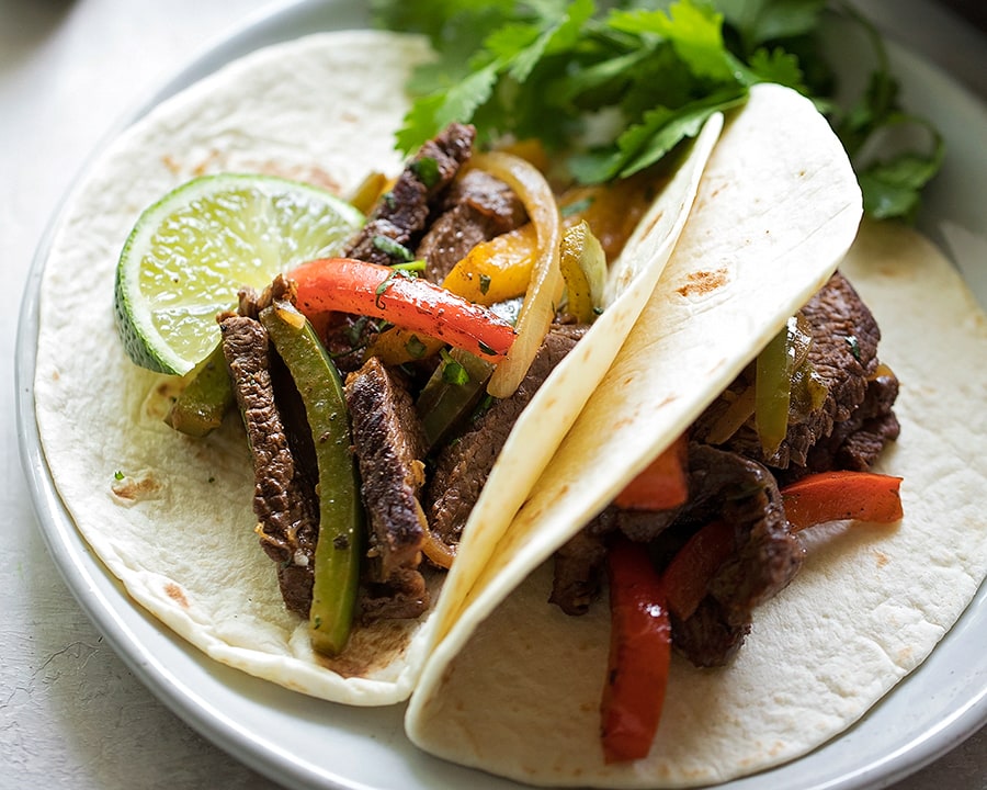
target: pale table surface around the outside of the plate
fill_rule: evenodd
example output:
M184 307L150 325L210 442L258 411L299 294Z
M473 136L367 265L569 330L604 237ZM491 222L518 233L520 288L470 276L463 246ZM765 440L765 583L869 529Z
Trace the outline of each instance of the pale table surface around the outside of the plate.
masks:
M117 120L266 0L0 0L0 788L274 788L126 669L47 554L18 458L18 296L65 190ZM867 4L867 3L865 3ZM926 0L873 0L893 37L987 97L985 38ZM987 790L987 729L894 790Z

